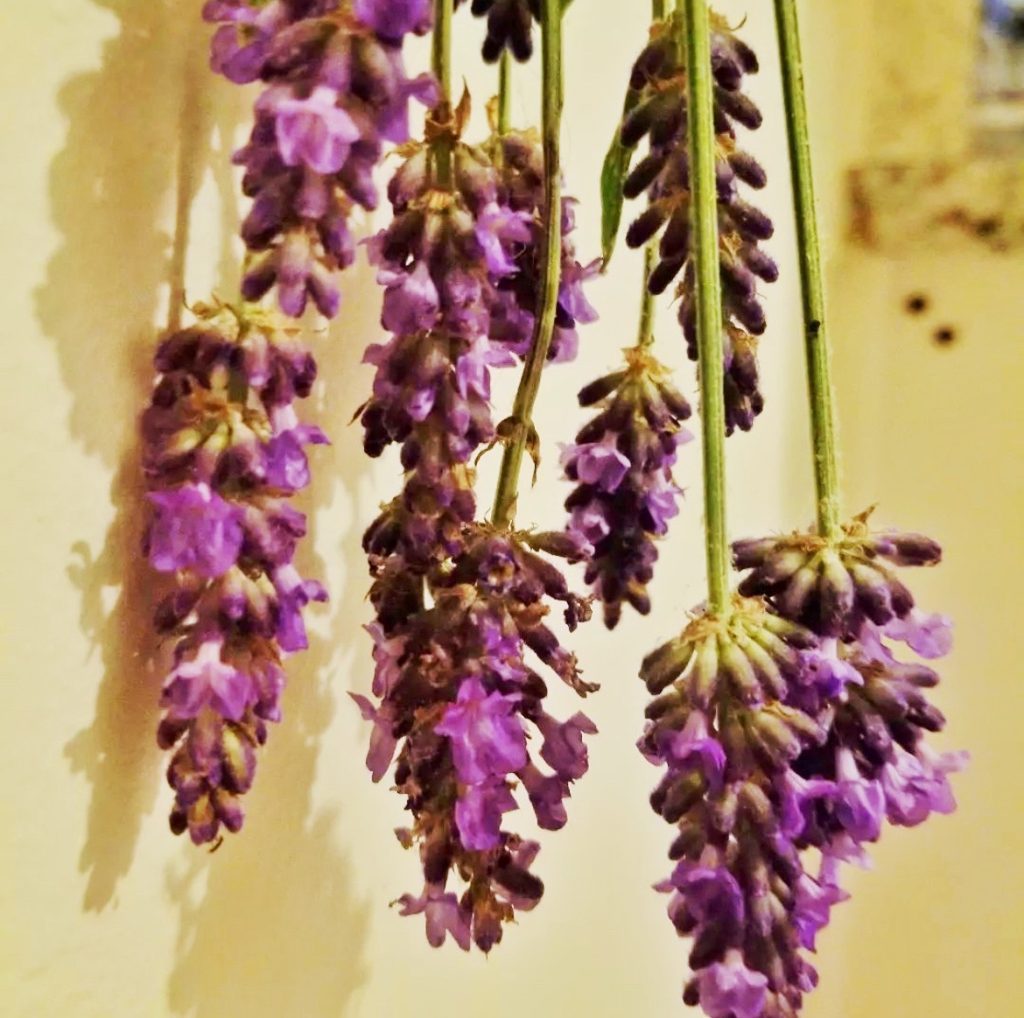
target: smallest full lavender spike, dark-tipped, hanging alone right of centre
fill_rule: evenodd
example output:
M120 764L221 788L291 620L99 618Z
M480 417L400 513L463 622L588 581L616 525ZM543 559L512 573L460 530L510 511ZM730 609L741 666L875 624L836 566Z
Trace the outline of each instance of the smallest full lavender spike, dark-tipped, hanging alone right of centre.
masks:
M690 408L669 372L640 347L628 352L623 370L586 386L580 402L600 409L562 454L575 484L565 502L567 529L613 629L624 603L641 614L650 610L655 542L682 497L673 467L679 446L691 437L681 426Z

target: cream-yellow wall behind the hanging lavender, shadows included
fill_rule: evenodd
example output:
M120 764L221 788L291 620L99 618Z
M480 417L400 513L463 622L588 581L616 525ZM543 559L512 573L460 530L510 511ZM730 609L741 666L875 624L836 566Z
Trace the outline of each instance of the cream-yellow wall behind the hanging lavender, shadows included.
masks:
M887 834L874 871L850 876L853 900L820 940L809 1018L1021 1013L1020 19L1012 3L984 6L982 32L982 4L970 0L804 4L847 507L878 502L882 523L945 545L944 564L910 580L924 606L956 619L938 693L950 718L942 745L974 756L956 778L955 816ZM244 833L208 854L167 830L133 422L168 307L182 293L229 292L237 279L228 157L251 99L206 70L199 7L36 0L2 16L0 1010L678 1014L686 946L650 890L667 873L670 832L649 810L654 773L633 744L645 702L637 661L701 597L696 448L653 613L614 634L595 624L580 635L588 675L603 686L589 705L602 733L568 826L544 839L542 905L487 961L431 950L419 920L388 908L416 889L416 860L391 834L397 797L364 770L367 732L345 695L370 679L359 535L397 481L395 464L367 462L347 426L368 384L361 350L379 336L365 262L315 343L317 413L334 444L315 454L305 564L333 601L292 664L286 721L263 754ZM746 17L743 37L762 55L754 89L765 127L749 143L771 172L764 204L778 231L769 247L783 267L768 295L768 410L728 449L741 536L807 522L811 481L771 4L721 8L737 24ZM567 17L567 180L582 200L584 253L597 249L600 161L645 31L642 3L577 0ZM479 111L494 77L465 12L457 39L457 75ZM410 59L425 56L419 46ZM519 122L536 117L536 73L517 73ZM638 281L638 259L620 250L593 287L602 320L585 331L581 359L546 375L546 462L523 521L561 519L555 443L580 420L575 390L631 341ZM668 308L658 344L692 390ZM493 468L485 463L484 484Z

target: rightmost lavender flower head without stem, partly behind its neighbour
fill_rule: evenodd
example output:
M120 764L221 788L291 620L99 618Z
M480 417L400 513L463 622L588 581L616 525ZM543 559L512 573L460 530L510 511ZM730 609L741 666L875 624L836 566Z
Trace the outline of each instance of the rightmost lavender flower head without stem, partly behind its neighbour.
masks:
M794 534L733 546L736 565L751 570L740 589L766 595L780 614L823 638L827 652L818 668L827 679L812 695L797 690L794 702L830 718L828 740L795 766L844 791L817 806L807 835L809 844L840 857L876 841L886 818L912 826L932 812L951 812L947 774L967 759L926 745L926 733L945 725L925 694L939 676L894 652L902 642L930 660L951 646L949 620L916 609L894 568L935 565L941 549L919 534L872 533L869 514L833 539Z

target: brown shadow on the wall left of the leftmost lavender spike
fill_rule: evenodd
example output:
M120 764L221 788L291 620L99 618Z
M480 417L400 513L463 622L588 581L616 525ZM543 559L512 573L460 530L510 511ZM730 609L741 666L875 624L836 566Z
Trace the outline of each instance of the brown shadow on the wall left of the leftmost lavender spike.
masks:
M208 157L210 110L205 93L196 101L208 37L198 2L93 2L117 16L119 31L100 66L59 93L68 134L49 192L61 241L35 298L72 396L69 432L113 474L104 543L76 543L68 567L83 632L103 665L92 721L63 751L91 786L79 867L83 907L99 910L131 865L162 780L151 626L159 590L139 552L136 420L152 384L157 315L168 289L182 290L181 227ZM163 224L175 200L172 236Z

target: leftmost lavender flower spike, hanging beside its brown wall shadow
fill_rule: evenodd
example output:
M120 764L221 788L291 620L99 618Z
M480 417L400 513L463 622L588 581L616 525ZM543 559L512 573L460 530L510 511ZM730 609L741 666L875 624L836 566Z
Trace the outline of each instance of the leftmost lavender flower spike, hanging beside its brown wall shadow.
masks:
M171 830L212 841L243 822L267 723L281 719L283 661L306 646L302 612L324 588L293 564L305 516L290 499L309 482L299 422L309 351L258 308L195 308L165 339L142 417L153 507L144 551L174 589L156 612L174 642L158 739L173 751Z

